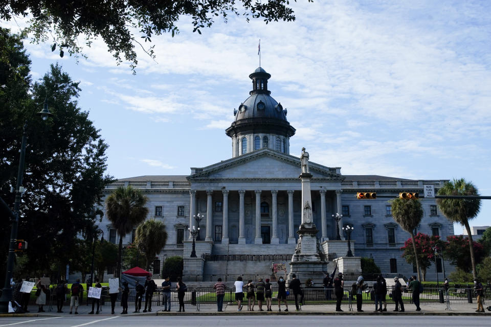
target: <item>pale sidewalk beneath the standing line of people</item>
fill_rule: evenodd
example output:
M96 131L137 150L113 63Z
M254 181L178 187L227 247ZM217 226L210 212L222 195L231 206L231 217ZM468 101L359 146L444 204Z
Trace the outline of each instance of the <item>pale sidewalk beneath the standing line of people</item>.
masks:
M273 302L274 303L274 302ZM119 302L117 302L117 305ZM258 311L259 307L254 306L254 311L247 311L247 306L244 306L242 311L237 311L237 304L228 305L224 303L224 312L216 312L216 305L214 303L206 303L199 305L199 311L196 310L196 306L191 306L189 303L186 303L185 310L186 312L177 312L179 305L177 302L172 302L171 312L164 312L163 306L152 306L152 312L143 313L143 308L140 310L140 313L132 313L135 311L134 303L128 303L128 314L127 316L141 316L141 315L157 315L157 316L178 316L178 315L466 315L466 316L491 316L491 311L487 311L485 313L479 313L476 311L475 303L458 303L457 305L452 306L452 310L445 310L447 305L445 303L421 303L421 311L415 311L415 307L411 303L405 303L405 312L393 312L394 304L389 303L387 306L386 312L373 312L375 310L372 303L367 303L363 306L364 312L356 311L356 303L354 302L354 311L348 310L348 304L341 305L341 309L343 312L336 312L336 305L305 305L302 306L301 311L295 311L295 305L288 305L288 312L285 312L285 306L281 306L281 312L278 312L277 303L273 304L272 312L268 311ZM487 307L488 305L485 305ZM265 310L266 306L263 306L263 310ZM29 306L29 313L24 314L0 314L0 317L54 317L54 316L73 316L77 317L80 315L84 316L110 316L111 314L111 306L104 305L102 306L102 310L99 315L89 315L88 313L92 311L92 306L80 306L78 307L78 315L70 315L70 307L63 306L63 313L57 313L56 307L54 307L53 311L49 311L49 306L44 306L45 312L37 313L37 306ZM75 310L74 310L75 311ZM120 306L116 306L115 315L120 315L122 312L122 308Z

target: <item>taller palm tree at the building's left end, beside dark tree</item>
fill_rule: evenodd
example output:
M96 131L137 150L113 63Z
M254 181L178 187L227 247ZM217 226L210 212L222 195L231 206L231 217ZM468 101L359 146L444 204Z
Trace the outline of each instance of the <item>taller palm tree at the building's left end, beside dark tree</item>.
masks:
M123 251L123 237L133 226L140 224L148 214L145 206L147 198L142 191L120 186L106 199L107 219L113 224L119 233L118 262L116 264L116 275L121 277L121 256Z

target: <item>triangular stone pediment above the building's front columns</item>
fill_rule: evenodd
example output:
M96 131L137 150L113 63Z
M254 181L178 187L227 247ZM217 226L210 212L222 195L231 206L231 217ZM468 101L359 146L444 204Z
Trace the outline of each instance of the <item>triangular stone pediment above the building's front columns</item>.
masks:
M344 177L340 168L329 168L315 162L309 162L309 171L313 178L341 181ZM226 178L298 178L302 172L300 158L271 149L261 149L239 157L204 167L192 168L188 180L226 179Z

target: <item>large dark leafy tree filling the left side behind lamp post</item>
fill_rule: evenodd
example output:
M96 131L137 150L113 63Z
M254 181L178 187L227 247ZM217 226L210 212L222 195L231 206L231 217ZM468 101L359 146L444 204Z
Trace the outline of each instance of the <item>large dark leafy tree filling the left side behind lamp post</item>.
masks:
M66 266L74 258L79 233L102 216L102 190L113 181L106 171L107 145L88 113L78 107L80 88L59 65L38 82L30 79L30 61L22 37L0 29L0 197L14 202L19 148L26 125L27 147L18 238L29 242L30 271L50 273L53 262ZM5 78L6 77L6 78ZM53 116L41 121L34 112L44 99ZM10 221L1 215L0 237L9 238ZM0 244L0 271L5 271L8 242ZM2 279L3 280L3 279Z

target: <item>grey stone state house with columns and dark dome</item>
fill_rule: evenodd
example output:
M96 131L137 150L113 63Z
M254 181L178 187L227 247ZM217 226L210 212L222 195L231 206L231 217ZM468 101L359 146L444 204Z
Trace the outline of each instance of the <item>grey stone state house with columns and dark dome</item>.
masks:
M295 128L286 119L286 109L270 95L270 77L261 67L249 75L250 96L234 110L234 120L226 130L232 140L230 159L191 168L188 176L122 178L107 186L106 196L118 186L141 189L148 198L149 218L165 223L167 244L154 262L154 274L161 272L163 260L169 256L189 258L192 239L188 227L198 226L198 214L204 219L199 223L196 254L204 264L193 271L197 279L214 281L216 275L226 275L227 280L234 280L237 274L268 274L272 262L292 259L301 221L301 167L299 157L291 155L289 148ZM308 150L308 144L305 147ZM300 149L292 152L300 155ZM433 184L437 190L445 180L343 175L340 167L323 164L309 162L319 243L336 240L333 215L339 213L343 240L341 228L346 224L354 227L351 245L355 256L373 258L384 273L412 275L413 267L401 258L399 249L409 234L394 222L387 198L356 200L356 192L394 197L403 191L422 194L423 184ZM435 201L421 202L424 216L416 232L443 239L453 235L453 224L438 211ZM105 218L99 227L107 230L109 241L118 242L119 235ZM134 233L127 235L124 243L130 243ZM440 262L436 268L441 269ZM184 271L184 278L196 278L187 276L189 272ZM435 272L435 266L428 268L427 279L435 278Z

